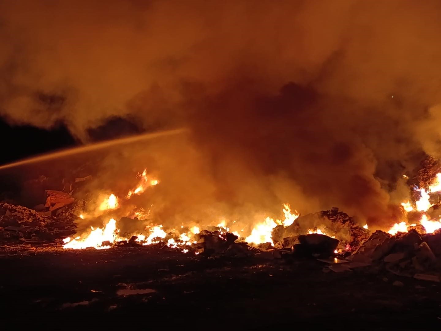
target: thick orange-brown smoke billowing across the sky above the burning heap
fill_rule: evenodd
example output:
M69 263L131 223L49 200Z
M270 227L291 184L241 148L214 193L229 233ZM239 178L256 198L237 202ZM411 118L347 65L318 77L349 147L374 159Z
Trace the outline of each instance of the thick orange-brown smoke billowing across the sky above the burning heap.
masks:
M440 11L410 0L1 1L0 111L63 121L83 141L115 116L190 128L151 147L170 183L164 219L289 201L384 225L415 155L438 154Z

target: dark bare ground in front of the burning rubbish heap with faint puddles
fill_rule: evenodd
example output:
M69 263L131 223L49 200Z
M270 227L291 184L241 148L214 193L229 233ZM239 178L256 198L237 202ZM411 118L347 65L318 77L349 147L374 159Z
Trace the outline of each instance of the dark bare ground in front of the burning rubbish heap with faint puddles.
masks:
M4 255L0 263L2 325L441 326L440 283L372 268L334 273L313 260L214 260L143 248ZM151 293L117 294L124 289Z

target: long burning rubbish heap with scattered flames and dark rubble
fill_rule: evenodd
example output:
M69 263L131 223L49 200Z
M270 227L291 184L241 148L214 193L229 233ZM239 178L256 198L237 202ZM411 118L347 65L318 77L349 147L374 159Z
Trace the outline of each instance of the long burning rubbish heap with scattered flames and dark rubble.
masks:
M149 209L136 206L135 196L154 190L160 181L145 169L138 184L119 196L101 194L95 201L75 199L71 191L47 190L44 206L31 210L0 204L0 241L7 250L31 246L63 249L150 247L187 254L263 258L285 256L338 257L329 269L384 267L402 276L439 280L441 270L441 166L428 158L408 180L411 199L401 203L402 217L389 229L371 233L368 224L334 207L300 215L283 205L283 218L266 217L247 231L236 221L217 225L189 222L168 228L157 224ZM71 188L71 187L70 187ZM102 225L75 230L90 220ZM92 224L92 223L89 223ZM130 225L130 226L127 226ZM12 244L12 246L11 246ZM344 259L344 260L342 260Z

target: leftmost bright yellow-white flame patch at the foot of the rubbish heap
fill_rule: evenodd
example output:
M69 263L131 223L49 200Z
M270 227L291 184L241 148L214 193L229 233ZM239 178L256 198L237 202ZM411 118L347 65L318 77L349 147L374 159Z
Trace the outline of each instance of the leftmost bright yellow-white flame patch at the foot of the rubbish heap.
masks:
M97 250L110 248L109 245L103 246L103 242L115 243L117 241L118 235L116 233L116 221L111 218L103 228L91 228L91 232L84 239L73 239L70 237L64 239L65 245L63 248L87 248L94 247Z

